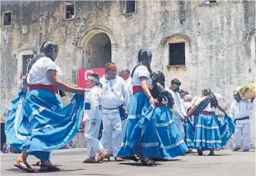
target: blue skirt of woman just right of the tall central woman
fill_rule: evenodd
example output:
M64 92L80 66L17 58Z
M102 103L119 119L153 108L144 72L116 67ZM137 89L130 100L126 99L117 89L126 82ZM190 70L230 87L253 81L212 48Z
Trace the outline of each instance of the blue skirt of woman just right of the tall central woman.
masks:
M186 153L188 147L182 139L175 121L173 121L173 112L167 107L155 107L153 116L160 146L158 158L169 159Z

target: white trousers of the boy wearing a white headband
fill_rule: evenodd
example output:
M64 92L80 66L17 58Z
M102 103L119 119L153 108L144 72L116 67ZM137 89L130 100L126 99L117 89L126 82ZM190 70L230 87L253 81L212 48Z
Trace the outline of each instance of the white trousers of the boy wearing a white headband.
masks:
M96 125L92 125L91 119L87 119L85 123L85 140L87 142L87 155L89 157L96 157L104 147L98 140L98 133L100 131L101 119L96 119Z

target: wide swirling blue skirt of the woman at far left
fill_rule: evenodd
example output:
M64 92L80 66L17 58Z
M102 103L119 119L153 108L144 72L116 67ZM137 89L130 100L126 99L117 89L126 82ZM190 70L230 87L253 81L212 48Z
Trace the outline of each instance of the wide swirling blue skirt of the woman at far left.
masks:
M12 101L5 125L8 142L20 150L29 147L30 155L64 147L78 133L83 98L84 95L74 95L70 103L61 108L55 95L47 90L31 90L26 97L19 93Z

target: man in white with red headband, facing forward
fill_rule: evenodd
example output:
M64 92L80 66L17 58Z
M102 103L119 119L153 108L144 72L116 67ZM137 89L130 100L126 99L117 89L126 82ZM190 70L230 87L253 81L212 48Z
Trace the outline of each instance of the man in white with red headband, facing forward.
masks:
M117 76L117 66L113 62L105 65L105 76L100 79L102 83L102 121L103 132L100 142L108 153L112 153L116 161L122 158L117 152L122 144L122 120L128 113L130 101L129 92L124 79ZM107 157L104 161L109 160Z

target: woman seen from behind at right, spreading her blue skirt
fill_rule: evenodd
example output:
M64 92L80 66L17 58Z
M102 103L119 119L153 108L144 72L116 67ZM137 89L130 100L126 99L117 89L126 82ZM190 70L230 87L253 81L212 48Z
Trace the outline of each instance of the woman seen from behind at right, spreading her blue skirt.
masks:
M217 109L225 114L223 123L215 115ZM209 150L209 155L214 156L214 149L221 149L233 133L232 119L208 88L202 90L202 97L189 110L188 115L195 117L193 142L197 153L203 155L203 151Z

